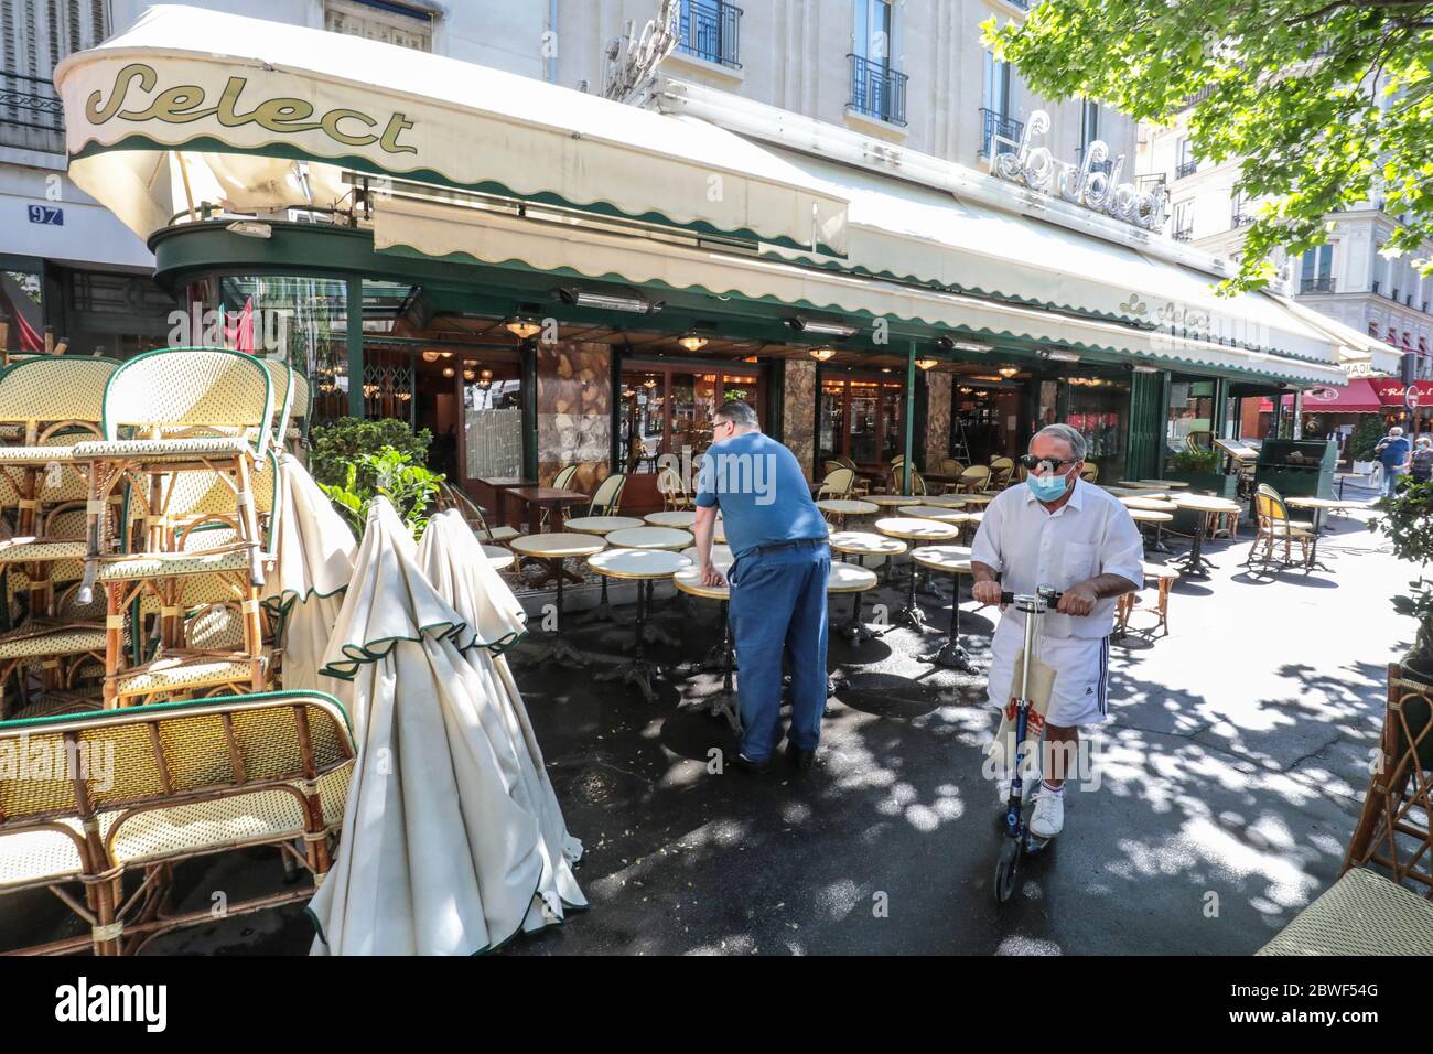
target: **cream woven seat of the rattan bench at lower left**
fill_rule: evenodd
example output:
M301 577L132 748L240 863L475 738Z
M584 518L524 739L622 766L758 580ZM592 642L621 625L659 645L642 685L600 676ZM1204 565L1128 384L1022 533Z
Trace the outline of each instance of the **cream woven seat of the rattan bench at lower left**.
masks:
M330 832L342 826L350 776L348 769L335 769L317 780ZM289 786L301 787L297 780ZM107 812L96 819L112 859L122 866L304 836L302 802L284 790L238 793L128 815ZM75 837L83 837L79 820L62 817L56 825L73 830ZM0 891L79 878L83 865L75 845L75 839L59 830L0 835Z

